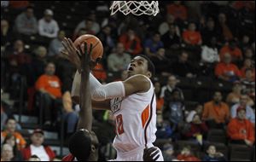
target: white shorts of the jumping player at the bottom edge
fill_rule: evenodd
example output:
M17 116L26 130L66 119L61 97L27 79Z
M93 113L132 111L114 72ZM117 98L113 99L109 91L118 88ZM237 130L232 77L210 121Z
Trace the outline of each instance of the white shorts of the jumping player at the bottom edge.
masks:
M150 144L148 147L151 148L154 147L154 145ZM108 161L143 161L144 148L145 146L142 146L125 153L117 151L117 159L110 159ZM158 149L160 150L160 148ZM159 154L160 157L156 161L164 161L161 150Z

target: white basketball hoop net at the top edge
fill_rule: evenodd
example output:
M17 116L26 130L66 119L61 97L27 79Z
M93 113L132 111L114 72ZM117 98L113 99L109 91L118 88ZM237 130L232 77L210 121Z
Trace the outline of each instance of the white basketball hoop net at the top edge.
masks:
M113 1L111 7L111 15L120 11L123 14L135 15L156 15L159 13L158 1Z

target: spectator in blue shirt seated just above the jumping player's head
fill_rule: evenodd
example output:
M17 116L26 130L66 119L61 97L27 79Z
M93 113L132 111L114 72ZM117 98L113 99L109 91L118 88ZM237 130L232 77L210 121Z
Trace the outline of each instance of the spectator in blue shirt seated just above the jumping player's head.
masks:
M148 38L144 43L145 53L149 57L157 55L157 51L163 48L164 44L160 39L160 33L155 32L152 38Z

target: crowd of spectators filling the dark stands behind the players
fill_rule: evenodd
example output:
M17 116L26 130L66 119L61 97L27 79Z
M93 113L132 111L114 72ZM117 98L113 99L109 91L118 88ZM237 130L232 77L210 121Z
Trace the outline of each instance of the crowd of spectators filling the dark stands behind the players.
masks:
M17 100L26 78L23 113L43 120L25 140L13 118L18 106L1 100L1 161L54 160L42 129L58 130L64 119L66 139L76 130L79 105L70 95L75 67L60 50L63 38L83 34L96 35L104 46L92 71L102 84L127 78L136 55L154 62L156 136L164 140L156 145L165 160L232 160L209 144L213 130L224 132L226 148L255 149L255 2L163 1L155 17L110 16L109 4L1 1L1 89ZM100 159L114 159L113 116L93 115Z

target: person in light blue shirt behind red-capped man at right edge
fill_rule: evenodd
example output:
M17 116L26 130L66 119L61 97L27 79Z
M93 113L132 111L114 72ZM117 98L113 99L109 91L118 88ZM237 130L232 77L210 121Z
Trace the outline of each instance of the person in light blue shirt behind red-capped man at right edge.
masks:
M241 95L240 102L236 103L236 105L231 107L230 116L233 119L236 118L237 117L237 113L236 113L237 108L243 107L246 109L246 119L250 120L251 123L255 124L255 113L253 112L253 108L247 105L248 99L249 99L248 95Z

